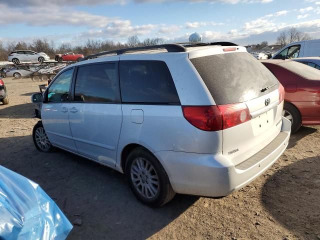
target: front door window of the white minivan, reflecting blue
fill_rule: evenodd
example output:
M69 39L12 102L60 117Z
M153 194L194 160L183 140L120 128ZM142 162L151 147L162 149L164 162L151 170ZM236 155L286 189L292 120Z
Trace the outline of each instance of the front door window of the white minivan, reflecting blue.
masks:
M54 79L48 88L48 102L62 102L69 100L69 87L73 69L66 70Z

